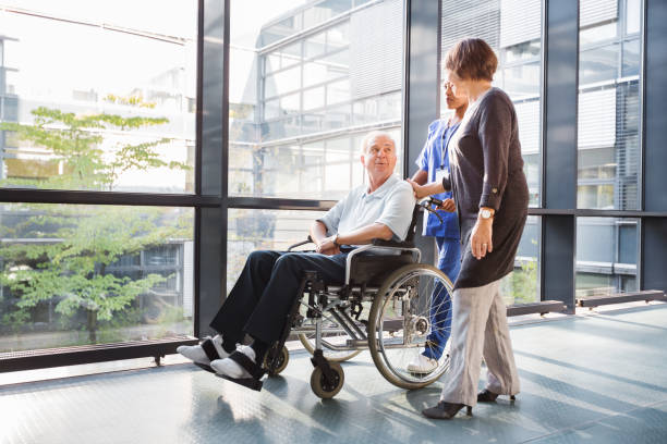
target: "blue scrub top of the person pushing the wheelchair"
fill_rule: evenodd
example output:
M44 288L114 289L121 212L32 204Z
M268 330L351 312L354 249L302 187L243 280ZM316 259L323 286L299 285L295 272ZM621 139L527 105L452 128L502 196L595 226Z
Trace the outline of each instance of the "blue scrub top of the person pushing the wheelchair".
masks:
M428 172L428 183L436 181L436 171L445 169L449 171L449 153L447 145L449 139L459 128L459 124L452 126L447 125L447 120L437 120L428 125L428 138L420 157L415 161L417 166ZM437 199L448 199L451 193L440 193L434 195ZM459 239L459 220L456 212L438 211L442 218L442 224L435 214L428 213L424 220L424 236L446 237L450 239Z

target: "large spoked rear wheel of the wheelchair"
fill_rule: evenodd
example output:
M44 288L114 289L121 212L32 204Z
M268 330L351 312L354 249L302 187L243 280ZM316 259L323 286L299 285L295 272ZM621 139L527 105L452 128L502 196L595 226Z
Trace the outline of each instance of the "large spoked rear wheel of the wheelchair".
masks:
M434 338L449 337L452 289L449 278L423 263L401 267L383 283L371 308L368 346L387 381L413 390L433 383L447 371L449 341L437 344ZM409 369L427 347L440 355L436 368L428 372Z

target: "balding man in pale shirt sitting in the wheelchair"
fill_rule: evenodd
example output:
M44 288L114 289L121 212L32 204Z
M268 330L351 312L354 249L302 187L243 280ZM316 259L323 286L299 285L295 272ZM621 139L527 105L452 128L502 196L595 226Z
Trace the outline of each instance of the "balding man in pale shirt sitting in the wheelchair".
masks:
M368 184L352 189L313 222L310 234L316 250L253 251L210 323L219 334L199 345L180 346L178 353L221 378L259 390L262 362L286 331L304 272L317 272L325 283L340 283L352 246L405 238L415 199L410 184L393 174L396 162L391 136L368 134L361 153ZM237 346L246 334L253 342Z

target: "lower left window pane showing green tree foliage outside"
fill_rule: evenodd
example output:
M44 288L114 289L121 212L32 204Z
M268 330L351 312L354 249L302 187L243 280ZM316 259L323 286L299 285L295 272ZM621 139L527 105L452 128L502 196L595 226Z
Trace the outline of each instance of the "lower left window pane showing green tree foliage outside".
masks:
M193 209L0 212L0 353L193 333Z

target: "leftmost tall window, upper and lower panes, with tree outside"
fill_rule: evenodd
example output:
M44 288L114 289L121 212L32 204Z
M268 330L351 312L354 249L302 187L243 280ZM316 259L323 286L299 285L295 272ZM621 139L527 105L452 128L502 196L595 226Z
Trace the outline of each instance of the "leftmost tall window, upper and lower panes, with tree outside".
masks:
M0 29L0 187L194 193L196 1L8 0ZM0 353L192 334L193 208L57 200L0 203Z

